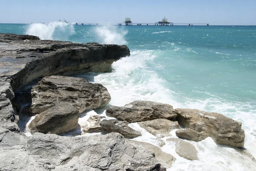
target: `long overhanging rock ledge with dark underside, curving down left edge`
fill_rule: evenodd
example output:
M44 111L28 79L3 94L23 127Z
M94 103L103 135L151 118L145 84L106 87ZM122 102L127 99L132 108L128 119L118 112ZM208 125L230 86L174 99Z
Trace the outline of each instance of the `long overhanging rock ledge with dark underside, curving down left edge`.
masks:
M30 35L0 33L0 90L2 92L2 87L11 83L15 92L35 78L47 75L106 72L113 61L125 56L130 56L125 45L50 41ZM10 103L12 99L13 96L0 95L0 126L19 131Z

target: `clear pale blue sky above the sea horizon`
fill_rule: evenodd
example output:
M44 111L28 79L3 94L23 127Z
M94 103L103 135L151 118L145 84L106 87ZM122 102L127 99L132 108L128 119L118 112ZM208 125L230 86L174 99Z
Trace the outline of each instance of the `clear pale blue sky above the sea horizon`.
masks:
M173 23L256 25L256 0L0 0L0 23Z

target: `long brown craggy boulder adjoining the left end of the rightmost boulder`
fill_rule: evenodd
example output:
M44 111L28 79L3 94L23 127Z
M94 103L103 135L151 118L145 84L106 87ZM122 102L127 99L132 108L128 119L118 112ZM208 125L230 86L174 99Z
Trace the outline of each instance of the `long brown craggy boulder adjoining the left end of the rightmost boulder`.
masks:
M129 123L161 118L175 119L177 116L171 105L152 101L134 101L124 107L111 106L106 110L106 115Z

